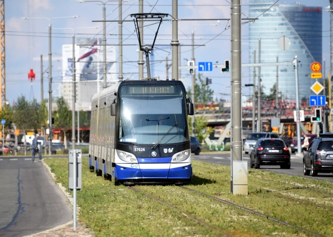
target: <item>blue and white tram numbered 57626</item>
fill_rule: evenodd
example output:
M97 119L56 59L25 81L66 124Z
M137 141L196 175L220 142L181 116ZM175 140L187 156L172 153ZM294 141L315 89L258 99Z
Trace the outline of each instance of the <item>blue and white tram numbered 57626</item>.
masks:
M188 115L180 81L122 81L91 103L89 166L113 182L184 183L192 177Z

